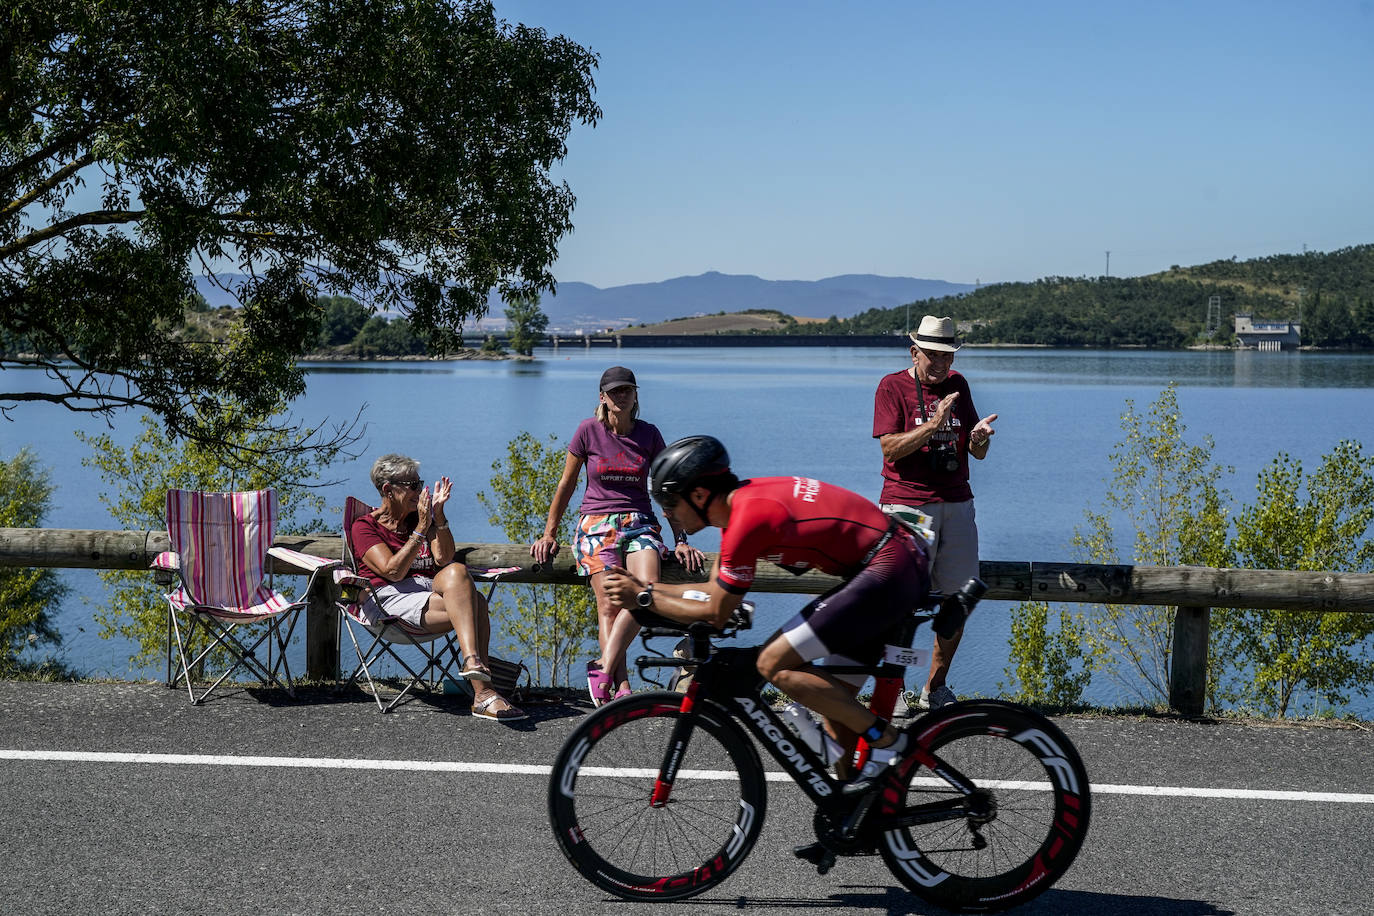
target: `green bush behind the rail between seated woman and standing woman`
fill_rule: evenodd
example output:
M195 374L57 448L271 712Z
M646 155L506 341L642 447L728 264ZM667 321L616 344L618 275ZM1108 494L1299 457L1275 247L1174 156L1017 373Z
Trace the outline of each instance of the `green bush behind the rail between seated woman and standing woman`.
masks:
M530 544L544 533L548 505L563 472L566 450L558 437L550 435L545 446L529 433L521 433L506 445L506 459L492 463L492 496L477 499L491 512L489 522L515 544ZM573 542L576 514L565 514L558 541ZM499 626L492 632L525 658L536 683L567 684L572 665L584 654L588 640L596 637L596 607L591 589L572 585L503 585ZM493 597L495 597L493 596ZM510 602L514 599L514 602Z

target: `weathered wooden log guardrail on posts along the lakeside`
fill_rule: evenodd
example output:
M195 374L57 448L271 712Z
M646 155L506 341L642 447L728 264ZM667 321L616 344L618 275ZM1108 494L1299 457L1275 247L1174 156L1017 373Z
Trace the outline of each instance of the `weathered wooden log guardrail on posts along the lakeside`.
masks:
M279 536L276 545L316 556L335 558L342 553L341 538L331 534ZM166 531L0 527L0 566L146 570L153 558L169 548ZM473 569L519 567L503 574L503 582L587 582L573 569L570 551L541 567L530 559L529 547L523 544L459 544L458 559ZM1176 607L1169 703L1187 715L1200 715L1206 698L1210 608L1374 614L1374 574L1370 573L1002 560L982 560L980 567L989 599ZM302 574L300 569L276 562L272 571ZM703 578L672 562L664 569L668 582ZM753 591L820 595L837 582L835 577L823 573L791 575L764 563L758 567ZM326 585L333 588L333 582ZM311 595L306 608L306 673L311 677L338 677L338 634L333 595Z

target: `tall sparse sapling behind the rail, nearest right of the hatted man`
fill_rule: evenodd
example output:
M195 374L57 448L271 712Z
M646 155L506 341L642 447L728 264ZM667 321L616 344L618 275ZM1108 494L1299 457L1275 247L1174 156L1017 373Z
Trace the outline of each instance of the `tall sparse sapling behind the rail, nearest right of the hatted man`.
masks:
M1090 563L1142 566L1228 566L1227 494L1212 463L1212 439L1190 445L1171 385L1140 416L1127 401L1125 439L1112 452L1114 468L1105 512L1087 511L1088 529L1074 545ZM1118 559L1116 523L1135 533ZM1147 604L1088 606L1085 639L1094 665L1146 702L1168 702L1175 608Z

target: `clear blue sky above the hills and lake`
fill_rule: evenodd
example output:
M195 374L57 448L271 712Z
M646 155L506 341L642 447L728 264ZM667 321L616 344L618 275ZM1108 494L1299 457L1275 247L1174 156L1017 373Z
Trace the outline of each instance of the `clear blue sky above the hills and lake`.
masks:
M1374 242L1374 3L496 0L600 55L559 282L1139 276Z

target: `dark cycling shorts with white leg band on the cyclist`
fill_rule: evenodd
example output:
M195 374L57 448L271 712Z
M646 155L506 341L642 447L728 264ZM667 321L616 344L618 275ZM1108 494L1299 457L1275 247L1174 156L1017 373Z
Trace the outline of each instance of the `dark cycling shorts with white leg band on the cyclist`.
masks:
M901 529L853 578L783 623L782 636L807 662L838 655L872 665L889 632L929 593L926 551Z

